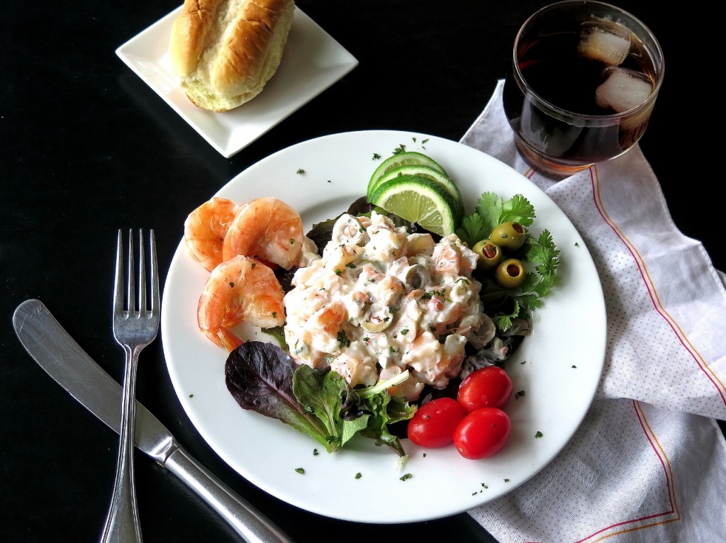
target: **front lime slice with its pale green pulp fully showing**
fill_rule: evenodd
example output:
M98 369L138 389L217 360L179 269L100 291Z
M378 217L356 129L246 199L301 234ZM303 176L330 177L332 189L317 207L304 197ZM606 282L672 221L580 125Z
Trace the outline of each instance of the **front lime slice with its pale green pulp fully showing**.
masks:
M436 181L422 176L388 179L369 201L441 236L454 233L460 220L452 195Z

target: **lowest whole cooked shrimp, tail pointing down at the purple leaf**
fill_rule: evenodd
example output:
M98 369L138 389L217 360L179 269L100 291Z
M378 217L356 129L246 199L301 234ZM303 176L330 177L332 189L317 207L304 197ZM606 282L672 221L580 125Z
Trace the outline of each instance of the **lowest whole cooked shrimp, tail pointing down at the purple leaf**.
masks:
M230 327L249 322L271 328L285 323L284 293L272 269L254 258L235 256L216 266L199 298L200 330L227 351L242 344Z

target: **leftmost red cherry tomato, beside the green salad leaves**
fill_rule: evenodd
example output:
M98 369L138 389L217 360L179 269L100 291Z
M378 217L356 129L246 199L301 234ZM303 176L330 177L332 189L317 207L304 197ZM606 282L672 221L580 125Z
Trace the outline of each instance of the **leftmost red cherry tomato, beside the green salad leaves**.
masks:
M409 421L409 439L428 449L446 446L454 440L454 430L464 415L464 408L453 398L431 400Z

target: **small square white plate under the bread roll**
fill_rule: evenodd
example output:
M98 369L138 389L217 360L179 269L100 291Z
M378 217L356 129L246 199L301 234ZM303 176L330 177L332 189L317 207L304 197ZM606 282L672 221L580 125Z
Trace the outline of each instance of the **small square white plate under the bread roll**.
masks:
M126 65L217 151L229 158L353 70L358 60L300 8L277 73L264 91L224 113L202 110L181 90L168 52L181 6L116 49Z

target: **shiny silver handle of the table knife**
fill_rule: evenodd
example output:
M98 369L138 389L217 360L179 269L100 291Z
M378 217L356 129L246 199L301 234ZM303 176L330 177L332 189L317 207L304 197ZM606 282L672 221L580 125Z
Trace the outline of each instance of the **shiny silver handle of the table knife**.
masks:
M181 446L172 452L164 467L184 481L248 543L293 543L280 528L238 497Z

